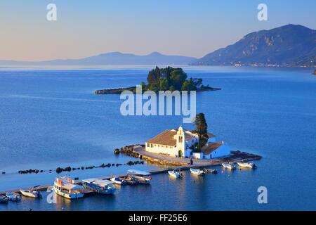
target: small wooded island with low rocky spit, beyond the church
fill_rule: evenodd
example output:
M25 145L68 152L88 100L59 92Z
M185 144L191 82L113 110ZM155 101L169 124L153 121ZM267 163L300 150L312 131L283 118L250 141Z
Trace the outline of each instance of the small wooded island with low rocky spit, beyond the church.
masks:
M182 68L159 68L150 70L147 75L147 84L140 84L143 91L217 91L220 88L202 84L201 78L187 79L187 74ZM95 91L95 94L121 94L122 91L133 91L136 93L136 86L129 86L118 89L103 89Z

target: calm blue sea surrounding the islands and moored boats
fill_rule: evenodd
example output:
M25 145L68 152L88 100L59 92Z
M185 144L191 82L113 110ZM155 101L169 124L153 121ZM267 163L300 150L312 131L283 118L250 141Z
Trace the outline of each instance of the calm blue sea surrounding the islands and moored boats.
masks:
M96 89L145 81L149 68L104 70L0 70L0 191L51 184L55 172L17 174L20 169L53 169L124 163L114 148L144 143L182 117L124 117L117 95ZM124 186L114 196L57 204L23 198L0 210L316 210L316 77L305 69L185 68L189 76L221 91L197 94L197 111L209 131L233 149L263 155L258 169L208 175L166 174L150 186ZM184 125L191 129L192 125ZM133 159L134 160L134 159ZM129 166L88 169L81 179L126 172ZM149 165L133 168L150 169ZM257 188L268 188L268 204ZM47 193L44 193L44 197Z

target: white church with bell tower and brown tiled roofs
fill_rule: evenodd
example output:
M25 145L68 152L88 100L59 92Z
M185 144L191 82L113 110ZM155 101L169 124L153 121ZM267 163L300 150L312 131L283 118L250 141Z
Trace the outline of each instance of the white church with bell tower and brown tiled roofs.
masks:
M216 137L208 133L209 142L203 146L200 153L192 153L192 146L199 141L199 136L192 131L184 131L180 126L178 129L167 129L153 139L146 141L145 150L151 153L169 155L176 158L212 159L230 155L230 147L225 143L216 142Z

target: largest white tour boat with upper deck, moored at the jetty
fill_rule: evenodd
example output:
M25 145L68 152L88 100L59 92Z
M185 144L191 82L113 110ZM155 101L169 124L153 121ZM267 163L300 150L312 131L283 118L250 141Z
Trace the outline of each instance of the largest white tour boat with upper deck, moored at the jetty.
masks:
M68 198L77 199L84 197L84 188L77 184L73 184L74 180L66 176L60 176L55 179L53 190L56 194Z

